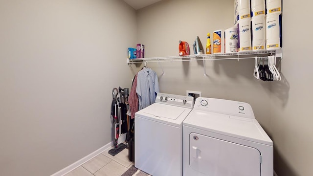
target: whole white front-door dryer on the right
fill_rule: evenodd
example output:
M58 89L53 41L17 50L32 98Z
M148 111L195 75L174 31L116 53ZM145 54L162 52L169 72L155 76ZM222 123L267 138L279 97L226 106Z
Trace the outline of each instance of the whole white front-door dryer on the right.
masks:
M273 176L273 142L249 104L196 99L183 122L183 176Z

